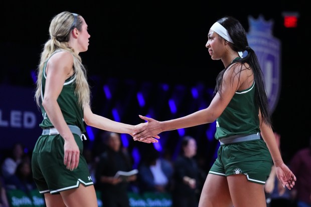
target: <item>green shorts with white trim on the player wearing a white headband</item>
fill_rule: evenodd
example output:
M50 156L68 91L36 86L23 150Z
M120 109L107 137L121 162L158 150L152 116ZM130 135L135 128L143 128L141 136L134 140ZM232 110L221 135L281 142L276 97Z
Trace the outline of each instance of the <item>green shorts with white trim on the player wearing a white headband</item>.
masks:
M266 143L256 139L220 145L209 173L221 176L245 174L249 181L265 184L272 164Z

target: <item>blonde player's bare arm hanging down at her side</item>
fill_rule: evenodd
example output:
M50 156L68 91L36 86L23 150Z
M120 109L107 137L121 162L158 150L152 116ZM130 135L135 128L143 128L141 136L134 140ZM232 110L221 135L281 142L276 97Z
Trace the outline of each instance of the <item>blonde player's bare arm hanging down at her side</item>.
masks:
M46 86L42 105L49 116L53 126L65 140L64 164L67 169L78 167L80 150L74 140L73 134L66 124L57 98L63 89L65 80L73 74L73 57L68 52L59 52L48 61L46 73Z

